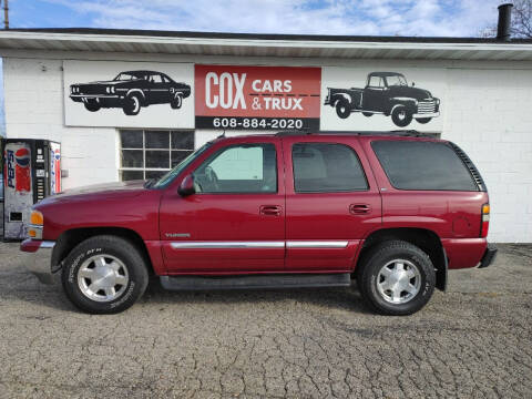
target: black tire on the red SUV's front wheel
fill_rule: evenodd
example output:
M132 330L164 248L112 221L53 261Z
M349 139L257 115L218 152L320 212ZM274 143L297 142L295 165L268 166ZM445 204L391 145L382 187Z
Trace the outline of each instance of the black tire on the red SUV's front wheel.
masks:
M84 267L84 270L91 266L93 267L91 270L95 269L96 265L91 263L91 259L100 257L112 262L114 262L113 258L119 259L125 267L122 275L125 274L126 284L111 283L116 284L112 288L116 290L116 297L112 300L101 298L94 300L82 290L86 291L86 288L82 288L83 285L90 288L91 283L103 280L103 278L94 278L94 280L83 278L79 273L81 267ZM108 264L110 265L111 263ZM101 274L98 275L98 277L101 276ZM80 283L80 279L83 282ZM116 314L131 307L144 294L149 273L144 257L131 242L116 236L101 235L85 239L70 252L63 263L61 280L66 297L81 310L90 314ZM93 297L108 295L104 288L98 291L94 289L94 291Z

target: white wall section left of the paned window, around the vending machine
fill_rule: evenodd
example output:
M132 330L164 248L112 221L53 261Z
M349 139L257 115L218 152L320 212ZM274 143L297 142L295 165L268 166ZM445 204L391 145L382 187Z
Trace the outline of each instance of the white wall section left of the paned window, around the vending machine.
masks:
M119 178L114 129L64 126L62 60L4 59L3 73L9 139L61 142L64 188Z

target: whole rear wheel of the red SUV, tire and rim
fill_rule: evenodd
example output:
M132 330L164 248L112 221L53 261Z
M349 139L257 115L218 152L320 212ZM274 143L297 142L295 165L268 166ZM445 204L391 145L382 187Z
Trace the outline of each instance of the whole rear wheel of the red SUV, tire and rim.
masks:
M361 259L357 274L364 300L381 315L411 315L427 305L434 290L432 262L407 242L377 245Z

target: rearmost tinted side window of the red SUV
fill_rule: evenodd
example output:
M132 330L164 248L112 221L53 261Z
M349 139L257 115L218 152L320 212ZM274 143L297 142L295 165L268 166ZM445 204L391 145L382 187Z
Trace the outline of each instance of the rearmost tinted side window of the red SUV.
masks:
M478 191L471 173L446 143L371 143L391 185L399 190Z

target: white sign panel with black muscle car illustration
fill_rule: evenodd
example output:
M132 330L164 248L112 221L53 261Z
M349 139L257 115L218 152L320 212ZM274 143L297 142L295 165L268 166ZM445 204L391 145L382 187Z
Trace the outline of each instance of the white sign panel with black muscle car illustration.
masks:
M194 129L194 65L63 62L64 124Z

